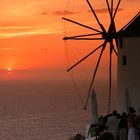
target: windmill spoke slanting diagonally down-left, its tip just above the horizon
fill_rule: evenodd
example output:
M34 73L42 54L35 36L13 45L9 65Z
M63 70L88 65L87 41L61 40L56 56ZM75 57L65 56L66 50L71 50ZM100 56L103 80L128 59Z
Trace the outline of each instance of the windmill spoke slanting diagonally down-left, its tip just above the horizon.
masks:
M80 64L82 61L84 61L86 58L88 58L90 55L92 55L94 52L96 52L98 49L100 49L103 46L103 44L101 44L99 47L97 47L95 50L93 50L92 52L90 52L88 55L86 55L84 58L82 58L81 60L79 60L77 63L75 63L73 66L71 66L67 72L69 72L70 70L72 70L74 67L76 67L78 64Z

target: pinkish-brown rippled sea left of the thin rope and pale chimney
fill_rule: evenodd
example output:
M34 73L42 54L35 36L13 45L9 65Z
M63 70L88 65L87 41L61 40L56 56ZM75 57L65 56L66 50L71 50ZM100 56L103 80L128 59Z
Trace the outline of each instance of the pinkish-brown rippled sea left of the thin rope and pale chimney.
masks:
M0 82L0 140L69 140L90 122L69 82Z

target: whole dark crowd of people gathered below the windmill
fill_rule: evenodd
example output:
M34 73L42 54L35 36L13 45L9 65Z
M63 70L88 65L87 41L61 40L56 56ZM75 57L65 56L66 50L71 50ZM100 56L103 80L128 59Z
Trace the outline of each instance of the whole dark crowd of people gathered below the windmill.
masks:
M77 134L74 140L86 140L89 136L95 140L140 140L140 112L136 114L133 107L122 114L114 110L100 116L97 124L91 124L87 136Z

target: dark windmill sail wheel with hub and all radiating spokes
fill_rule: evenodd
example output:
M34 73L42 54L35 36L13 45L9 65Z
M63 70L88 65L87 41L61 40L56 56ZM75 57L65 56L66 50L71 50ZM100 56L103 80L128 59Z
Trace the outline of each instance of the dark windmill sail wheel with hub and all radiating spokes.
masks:
M71 71L73 68L75 68L82 61L87 59L93 53L96 53L97 50L100 50L100 55L98 57L96 67L95 67L95 70L94 70L94 73L93 73L93 76L92 76L92 80L90 82L88 95L87 95L87 99L86 99L85 106L84 106L84 108L86 109L87 103L88 103L88 100L89 100L89 95L91 93L91 90L92 90L92 87L93 87L93 84L94 84L94 80L95 80L95 77L96 77L96 73L98 71L98 67L99 67L102 55L103 55L105 49L107 47L109 47L109 103L108 103L108 113L109 113L110 112L110 103L111 103L111 89L112 89L112 54L115 53L115 55L118 56L118 47L119 47L118 46L118 37L119 37L119 33L124 28L126 28L129 23L127 25L125 25L123 28L121 28L119 31L116 30L114 19L116 17L117 11L119 9L121 0L118 0L117 5L115 7L114 7L114 1L113 0L111 0L110 2L108 0L106 0L106 5L107 5L109 16L110 16L110 24L109 24L108 30L106 30L105 27L100 22L100 20L99 20L97 14L96 14L94 8L92 7L90 1L86 0L86 3L88 4L88 7L91 10L93 16L95 17L100 29L98 30L96 28L93 28L91 26L87 26L85 24L74 21L72 19L62 18L63 20L65 20L67 22L71 22L72 24L76 24L78 26L90 29L91 31L94 32L93 34L81 34L81 35L76 35L76 36L65 36L63 39L64 40L95 40L95 41L103 40L103 43L100 46L98 46L97 48L95 48L94 50L92 50L85 57L80 59L77 63L73 64L67 71ZM101 35L101 37L97 37L97 35ZM109 44L109 46L107 44Z

